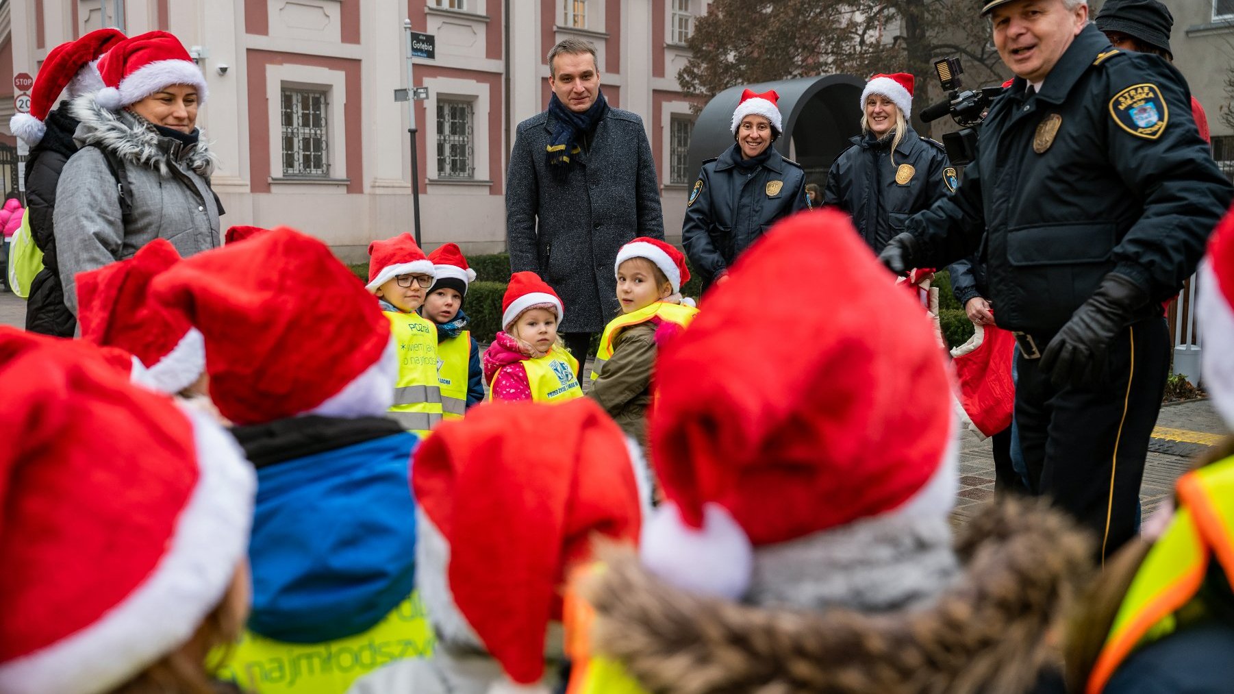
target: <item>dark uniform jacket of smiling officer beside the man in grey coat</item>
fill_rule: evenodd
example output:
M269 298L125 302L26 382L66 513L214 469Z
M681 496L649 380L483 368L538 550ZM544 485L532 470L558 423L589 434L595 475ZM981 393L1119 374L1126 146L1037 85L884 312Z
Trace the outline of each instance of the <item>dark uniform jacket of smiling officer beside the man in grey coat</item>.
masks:
M735 143L703 162L690 190L681 243L705 283L728 269L777 220L808 209L805 172L775 148L770 152L750 170L737 165L742 154Z

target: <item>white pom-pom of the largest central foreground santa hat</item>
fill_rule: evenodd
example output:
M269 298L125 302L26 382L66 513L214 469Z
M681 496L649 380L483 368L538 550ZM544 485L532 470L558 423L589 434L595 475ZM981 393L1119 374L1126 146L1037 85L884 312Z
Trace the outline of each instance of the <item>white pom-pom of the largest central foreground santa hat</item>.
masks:
M681 520L669 501L643 524L643 566L669 583L703 595L735 600L745 594L754 548L737 520L719 504L703 504L702 530Z

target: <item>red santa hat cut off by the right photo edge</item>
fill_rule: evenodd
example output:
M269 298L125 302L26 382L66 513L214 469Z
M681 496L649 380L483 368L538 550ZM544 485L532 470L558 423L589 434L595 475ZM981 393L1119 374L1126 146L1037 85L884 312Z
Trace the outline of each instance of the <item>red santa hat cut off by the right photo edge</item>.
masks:
M1234 210L1217 225L1208 240L1208 254L1199 265L1199 326L1204 348L1199 352L1204 387L1225 424L1234 427Z

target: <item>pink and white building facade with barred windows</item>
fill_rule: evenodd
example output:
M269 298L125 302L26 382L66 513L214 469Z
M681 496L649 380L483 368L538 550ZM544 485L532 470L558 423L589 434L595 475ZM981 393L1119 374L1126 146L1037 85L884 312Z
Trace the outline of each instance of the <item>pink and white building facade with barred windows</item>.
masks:
M565 37L597 48L612 106L642 116L655 156L665 233L680 237L694 116L676 74L706 0L0 0L0 168L15 94L48 49L100 26L170 31L210 88L199 125L218 156L223 222L289 225L344 259L412 228L406 35L426 247L505 248L505 170L520 121L544 110L545 54ZM106 14L105 14L106 12ZM4 170L9 170L5 168ZM9 175L9 174L6 174ZM7 180L5 182L9 183Z

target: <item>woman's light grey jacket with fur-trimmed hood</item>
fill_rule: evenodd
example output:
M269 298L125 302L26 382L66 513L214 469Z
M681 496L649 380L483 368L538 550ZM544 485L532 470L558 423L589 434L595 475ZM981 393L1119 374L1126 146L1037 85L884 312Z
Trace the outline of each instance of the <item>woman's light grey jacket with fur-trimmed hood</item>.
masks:
M54 220L64 304L77 315L78 273L131 258L155 238L184 257L215 248L222 210L210 190L213 158L204 135L185 147L128 111L99 106L93 94L73 101L73 116L81 121L74 135L80 149L60 174ZM100 147L123 163L127 215Z

